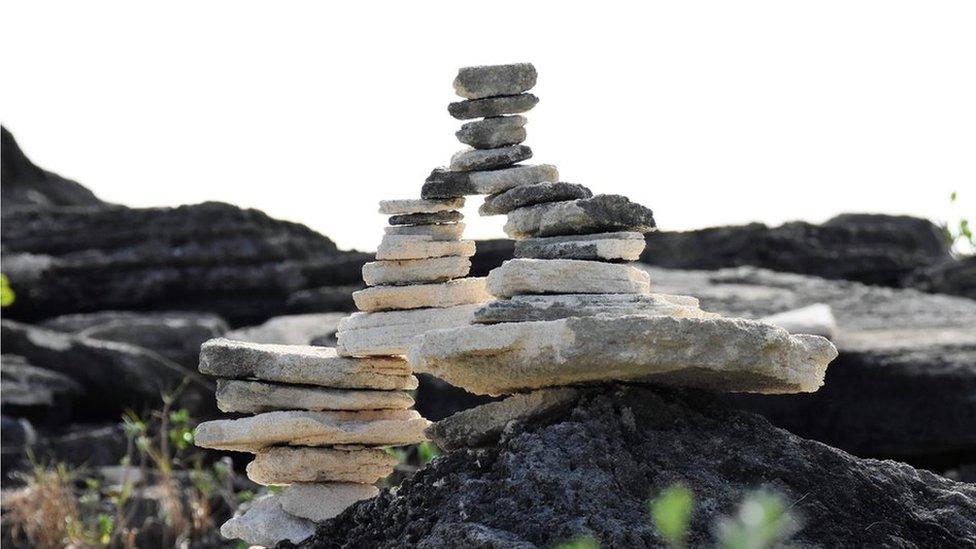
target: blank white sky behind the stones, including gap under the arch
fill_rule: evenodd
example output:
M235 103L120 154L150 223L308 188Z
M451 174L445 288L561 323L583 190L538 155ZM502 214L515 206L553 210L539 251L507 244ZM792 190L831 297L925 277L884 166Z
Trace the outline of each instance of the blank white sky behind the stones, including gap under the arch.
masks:
M457 68L531 61L533 161L661 228L976 212L973 2L0 5L0 121L112 202L221 200L373 249L376 202L461 148ZM480 202L466 235L503 236Z

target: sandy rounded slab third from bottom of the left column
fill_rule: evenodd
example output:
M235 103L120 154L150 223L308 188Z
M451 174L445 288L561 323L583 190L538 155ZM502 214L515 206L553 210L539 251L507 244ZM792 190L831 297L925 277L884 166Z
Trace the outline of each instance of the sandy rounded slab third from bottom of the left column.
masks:
M373 483L393 473L397 458L379 448L261 450L247 464L247 478L265 486L296 482Z

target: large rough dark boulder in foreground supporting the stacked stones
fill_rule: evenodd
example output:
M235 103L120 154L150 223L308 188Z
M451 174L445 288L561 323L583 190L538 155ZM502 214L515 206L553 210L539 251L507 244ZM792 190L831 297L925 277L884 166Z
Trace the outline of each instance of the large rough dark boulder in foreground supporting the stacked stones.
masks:
M660 547L646 502L678 482L695 496L692 547L714 545L716 521L757 487L801 517L799 545L976 544L976 486L853 457L710 395L610 386L555 417L510 424L495 447L434 460L300 547L552 547L587 535Z

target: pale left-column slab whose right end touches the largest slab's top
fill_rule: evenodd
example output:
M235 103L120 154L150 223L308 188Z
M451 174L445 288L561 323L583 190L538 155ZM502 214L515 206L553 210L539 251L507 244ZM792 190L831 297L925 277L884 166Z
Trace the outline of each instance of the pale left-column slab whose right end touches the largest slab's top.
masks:
M470 324L480 304L353 313L339 322L336 347L348 356L404 355L415 337L430 330Z

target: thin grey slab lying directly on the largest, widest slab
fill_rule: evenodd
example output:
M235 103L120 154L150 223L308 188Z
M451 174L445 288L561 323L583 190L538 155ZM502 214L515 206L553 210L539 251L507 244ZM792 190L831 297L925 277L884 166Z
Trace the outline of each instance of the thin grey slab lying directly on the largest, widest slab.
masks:
M596 315L667 315L711 318L698 308L698 300L667 294L560 294L517 295L493 301L478 309L474 322L535 322Z

